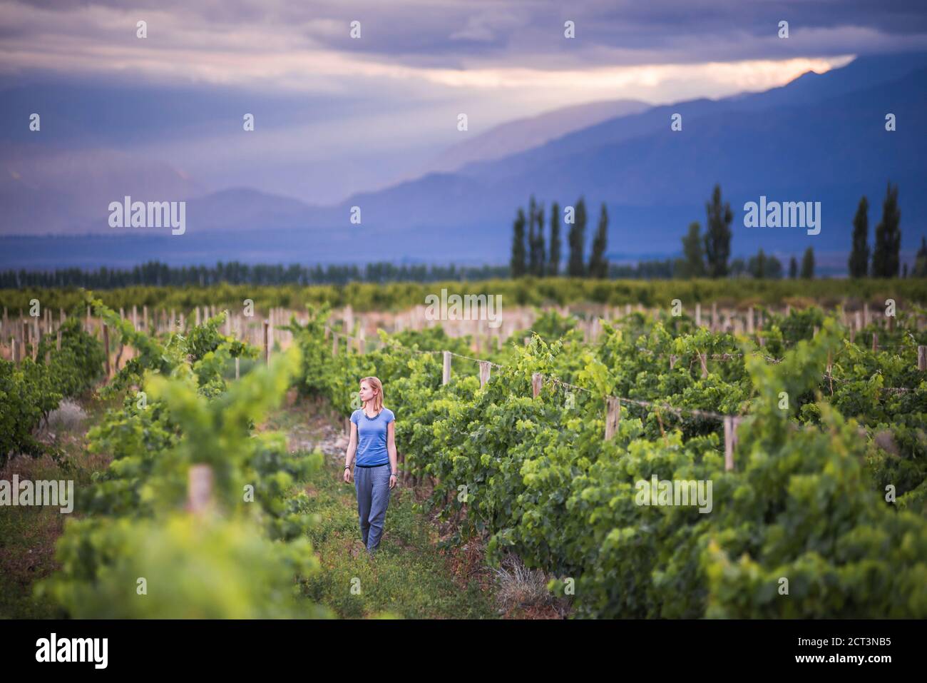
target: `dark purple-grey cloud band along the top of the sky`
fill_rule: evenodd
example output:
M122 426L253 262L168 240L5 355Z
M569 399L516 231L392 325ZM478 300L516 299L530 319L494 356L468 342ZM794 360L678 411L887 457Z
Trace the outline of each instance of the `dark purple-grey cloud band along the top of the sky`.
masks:
M782 58L885 52L927 46L924 0L159 0L150 6L122 0L30 0L25 6L73 12L89 6L143 16L167 13L187 28L228 32L261 26L297 36L304 45L380 56L418 67L460 68L473 59L504 59L529 66L550 54L565 66ZM11 6L15 13L16 5ZM349 37L349 22L362 22L362 39ZM577 39L563 38L566 19ZM773 41L778 22L790 23L789 42ZM30 25L28 31L36 31ZM860 43L859 36L866 40ZM0 33L0 42L11 37ZM21 37L21 36L20 36ZM42 40L37 36L38 40ZM524 64L521 64L524 60Z

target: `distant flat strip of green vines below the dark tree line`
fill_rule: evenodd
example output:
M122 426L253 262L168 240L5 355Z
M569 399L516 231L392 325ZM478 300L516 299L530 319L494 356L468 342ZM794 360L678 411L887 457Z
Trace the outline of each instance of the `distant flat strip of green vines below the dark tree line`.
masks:
M572 229L574 226L570 226ZM567 239L567 241L569 241ZM686 305L695 302L750 302L781 303L788 297L812 298L823 305L833 305L846 298L884 301L891 297L902 303L925 303L924 283L913 277L894 280L882 279L815 279L813 282L790 280L756 281L740 279L731 287L728 279L695 279L687 281L661 279L609 279L595 280L584 277L519 277L516 279L486 279L481 281L450 280L435 283L392 282L388 284L351 283L348 285L211 285L208 287L126 287L97 293L108 308L132 308L145 303L149 313L171 311L193 315L193 307L209 303L216 306L240 309L245 299L252 299L255 307L266 310L271 306L285 306L302 310L306 304L316 307L328 303L333 308L348 304L355 311L406 310L425 302L429 293L447 288L460 294L502 295L505 306L544 305L556 303L595 302L619 305L642 303L646 306L666 306L673 299ZM0 290L0 305L16 309L28 307L32 298L40 297L49 308L70 310L83 305L83 290L70 288Z

